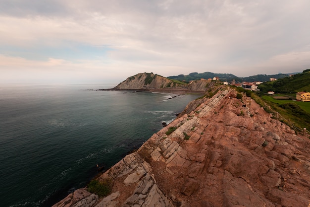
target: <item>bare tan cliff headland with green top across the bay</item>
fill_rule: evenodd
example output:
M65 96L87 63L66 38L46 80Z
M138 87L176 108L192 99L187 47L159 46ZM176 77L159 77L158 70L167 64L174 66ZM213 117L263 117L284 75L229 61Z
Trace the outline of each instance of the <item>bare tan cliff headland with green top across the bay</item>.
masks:
M172 87L173 81L153 73L138 73L128 77L125 81L118 84L114 89L150 89Z

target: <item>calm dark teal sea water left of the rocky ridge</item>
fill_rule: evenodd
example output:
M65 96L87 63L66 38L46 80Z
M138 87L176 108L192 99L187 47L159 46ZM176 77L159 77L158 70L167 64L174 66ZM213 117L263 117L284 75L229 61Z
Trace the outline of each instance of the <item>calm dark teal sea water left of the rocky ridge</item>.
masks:
M0 85L0 206L48 207L138 148L198 95Z

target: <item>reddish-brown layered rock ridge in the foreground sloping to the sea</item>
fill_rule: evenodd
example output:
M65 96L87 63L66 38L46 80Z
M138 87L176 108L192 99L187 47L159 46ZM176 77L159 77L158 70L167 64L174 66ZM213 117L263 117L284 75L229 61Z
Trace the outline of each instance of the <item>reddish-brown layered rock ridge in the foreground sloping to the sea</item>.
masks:
M309 207L309 138L222 88L54 207ZM175 131L166 135L169 128Z

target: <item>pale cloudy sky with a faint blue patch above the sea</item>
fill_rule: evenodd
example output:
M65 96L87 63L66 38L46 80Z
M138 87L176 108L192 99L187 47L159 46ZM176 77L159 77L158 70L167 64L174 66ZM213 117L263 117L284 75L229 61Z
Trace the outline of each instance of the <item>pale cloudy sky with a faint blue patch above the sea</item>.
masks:
M310 0L0 0L0 83L310 68Z

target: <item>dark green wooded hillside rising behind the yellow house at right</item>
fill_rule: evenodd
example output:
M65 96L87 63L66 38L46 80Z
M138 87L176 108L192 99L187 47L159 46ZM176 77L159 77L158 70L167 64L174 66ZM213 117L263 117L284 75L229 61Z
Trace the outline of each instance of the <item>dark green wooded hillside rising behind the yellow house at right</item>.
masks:
M296 93L310 91L310 69L291 77L284 77L276 81L269 81L258 86L262 93L274 91L275 93Z

